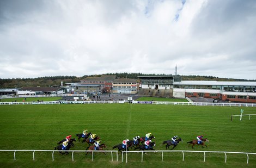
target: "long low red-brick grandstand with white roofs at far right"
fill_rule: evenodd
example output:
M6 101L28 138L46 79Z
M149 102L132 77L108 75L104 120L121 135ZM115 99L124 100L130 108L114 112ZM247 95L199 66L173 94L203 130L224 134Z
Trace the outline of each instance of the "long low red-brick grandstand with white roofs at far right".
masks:
M256 82L181 80L173 83L174 97L219 98L223 101L256 103Z

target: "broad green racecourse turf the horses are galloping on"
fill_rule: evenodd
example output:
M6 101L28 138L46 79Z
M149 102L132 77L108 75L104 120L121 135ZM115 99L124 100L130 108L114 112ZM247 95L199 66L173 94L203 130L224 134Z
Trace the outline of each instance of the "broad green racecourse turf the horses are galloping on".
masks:
M247 116L239 121L230 115L240 114L239 107L199 107L188 105L152 105L152 104L56 104L56 105L2 105L0 106L1 150L53 150L57 142L71 134L75 136L84 129L96 133L102 143L107 144L106 150L120 144L125 138L145 136L151 132L156 136L155 150L165 150L161 145L174 135L184 141L175 150L192 150L187 148L187 141L203 134L209 139L208 148L196 146L194 151L231 151L256 152L256 117L248 120ZM255 108L243 108L244 114L256 114ZM71 150L85 150L87 144L75 142ZM227 154L224 163L223 153L148 153L141 162L141 153L128 155L128 163L111 161L111 154L106 156L96 153L94 161L91 155L75 153L72 161L69 155L52 152L0 152L1 167L255 167L256 155Z

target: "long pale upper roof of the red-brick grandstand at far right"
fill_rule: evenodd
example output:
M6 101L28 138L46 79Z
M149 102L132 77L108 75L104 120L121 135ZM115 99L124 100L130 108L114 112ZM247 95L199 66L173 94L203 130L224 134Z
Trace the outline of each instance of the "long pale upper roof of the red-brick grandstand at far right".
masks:
M224 82L216 80L181 80L173 85L231 85L231 86L256 86L256 82Z

